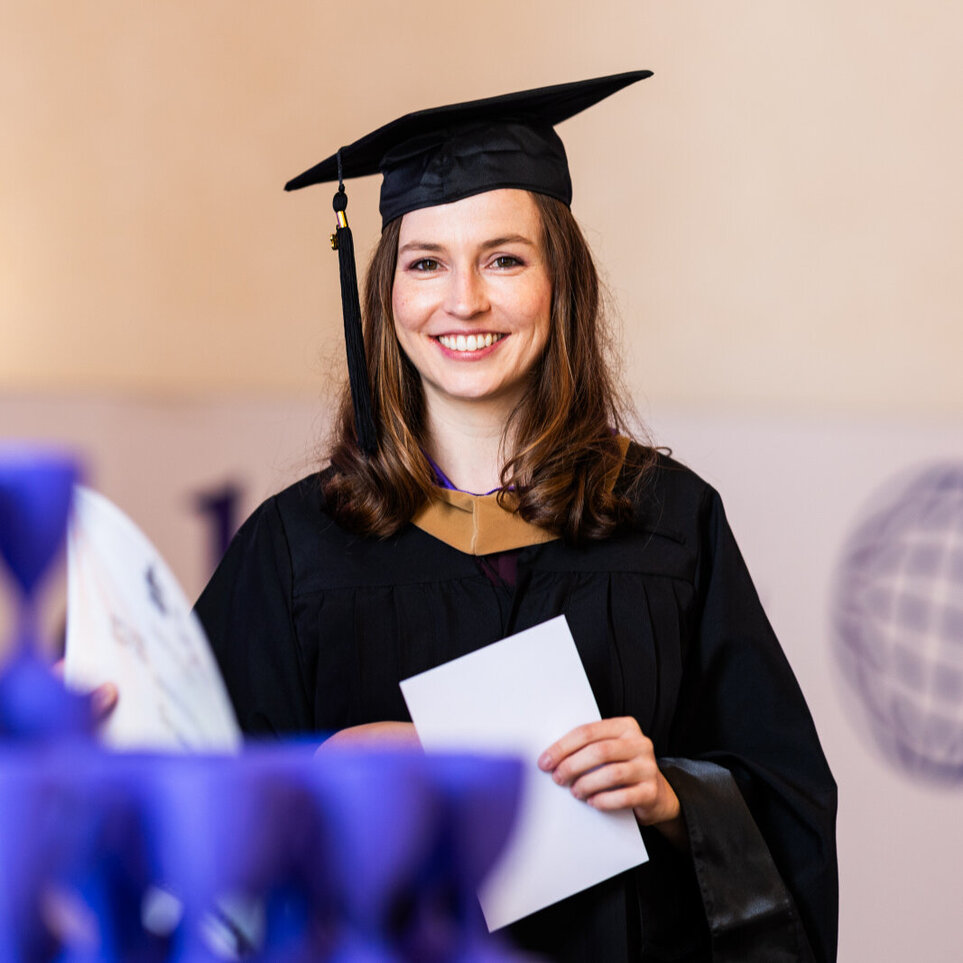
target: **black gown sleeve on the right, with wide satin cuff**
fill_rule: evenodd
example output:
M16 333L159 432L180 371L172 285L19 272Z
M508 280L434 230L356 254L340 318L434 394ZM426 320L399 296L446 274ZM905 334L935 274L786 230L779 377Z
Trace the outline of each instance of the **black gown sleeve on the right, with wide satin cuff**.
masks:
M711 489L701 616L660 766L688 829L715 963L836 958L836 784Z

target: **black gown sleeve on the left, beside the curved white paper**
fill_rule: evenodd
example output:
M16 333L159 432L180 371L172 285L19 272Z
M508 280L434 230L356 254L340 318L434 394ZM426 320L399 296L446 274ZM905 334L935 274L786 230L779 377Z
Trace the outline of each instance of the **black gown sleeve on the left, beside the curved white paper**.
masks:
M241 526L195 606L248 735L312 729L292 600L291 551L275 497Z

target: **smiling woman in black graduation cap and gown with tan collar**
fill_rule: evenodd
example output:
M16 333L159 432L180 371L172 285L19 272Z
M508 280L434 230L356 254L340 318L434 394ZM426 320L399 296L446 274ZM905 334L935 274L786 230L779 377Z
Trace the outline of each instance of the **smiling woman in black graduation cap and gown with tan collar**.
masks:
M408 115L289 185L384 174L367 371L330 466L248 520L198 613L247 731L375 743L414 738L401 679L564 613L602 721L539 765L631 809L651 858L516 941L830 960L835 785L718 496L624 435L568 208L553 125L644 76Z

